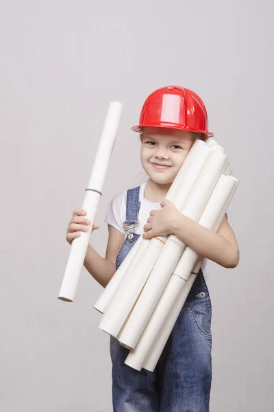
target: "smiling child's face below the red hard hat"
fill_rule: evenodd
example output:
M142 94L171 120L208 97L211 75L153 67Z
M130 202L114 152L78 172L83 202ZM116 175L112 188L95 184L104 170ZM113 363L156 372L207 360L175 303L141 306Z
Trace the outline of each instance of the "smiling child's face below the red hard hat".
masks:
M141 135L141 163L155 183L173 183L195 137L186 130L146 127Z

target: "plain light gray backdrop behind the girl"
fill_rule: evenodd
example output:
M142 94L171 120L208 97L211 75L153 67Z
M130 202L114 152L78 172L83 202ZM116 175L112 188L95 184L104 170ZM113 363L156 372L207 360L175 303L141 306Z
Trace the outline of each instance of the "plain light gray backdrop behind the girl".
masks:
M273 2L1 1L0 410L111 411L109 338L85 268L57 299L111 100L124 104L90 243L105 209L144 179L140 108L179 84L206 103L241 183L229 207L234 270L211 264L212 412L273 411Z

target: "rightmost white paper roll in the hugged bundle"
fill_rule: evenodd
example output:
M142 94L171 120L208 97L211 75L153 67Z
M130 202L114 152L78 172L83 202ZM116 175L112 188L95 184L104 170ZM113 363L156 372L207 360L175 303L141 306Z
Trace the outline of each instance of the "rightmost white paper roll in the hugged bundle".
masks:
M235 184L234 187L232 189L232 192L229 194L229 197L227 198L227 201L225 202L225 206L223 207L221 214L219 214L219 217L216 219L216 223L214 225L213 230L216 232L218 231L221 222L223 220L223 217L225 216L225 213L229 207L230 202L232 201L232 198L234 196L234 193L236 192L236 188L238 187L238 179L235 179L232 177L232 179L234 180ZM203 217L206 215L202 215ZM202 222L203 220L201 220ZM200 223L200 221L199 221ZM174 271L174 275L175 277L177 277L177 279L179 279L179 277L182 279L182 277L184 277L184 262L186 262L186 253L187 251L192 251L192 249L190 249L190 247L187 247L186 250L184 251L182 258L179 260L175 271ZM192 251L193 252L193 251ZM166 320L164 321L164 325L162 325L162 328L160 330L160 333L158 334L158 336L156 337L156 339L153 342L153 345L151 346L147 357L145 358L145 361L142 363L142 367L144 369L147 369L149 371L153 371L155 369L155 366L158 363L158 360L162 354L162 351L164 350L164 346L166 345L166 341L169 339L169 336L171 334L171 331L173 330L173 327L175 325L175 322L177 321L177 317L179 316L179 313L182 310L182 307L184 306L184 302L186 301L186 297L188 297L188 293L190 292L190 289L192 287L192 284L195 281L195 277L197 273L199 273L199 269L201 267L201 263L203 262L203 258L200 256L197 263L195 264L195 267L192 268L192 272L188 273L188 276L186 275L184 277L183 282L185 282L185 284L183 284L183 288L179 293L179 297L177 297L175 304L173 304L168 317L166 318ZM187 273L187 271L185 270L185 273ZM164 293L163 293L164 295ZM158 302L158 305L160 304L160 302ZM157 307L156 307L157 308Z

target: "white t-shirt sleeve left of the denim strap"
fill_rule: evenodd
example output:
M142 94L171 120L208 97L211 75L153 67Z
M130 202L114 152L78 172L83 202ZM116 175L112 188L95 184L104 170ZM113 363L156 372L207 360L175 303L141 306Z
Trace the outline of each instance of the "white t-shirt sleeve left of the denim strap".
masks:
M125 233L123 222L125 222L126 202L127 191L125 190L112 198L105 212L105 222L122 233Z

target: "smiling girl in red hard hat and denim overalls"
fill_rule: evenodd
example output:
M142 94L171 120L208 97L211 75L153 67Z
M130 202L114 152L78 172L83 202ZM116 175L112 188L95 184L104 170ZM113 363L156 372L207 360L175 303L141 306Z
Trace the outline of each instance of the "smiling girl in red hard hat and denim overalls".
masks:
M105 217L108 246L102 258L90 244L84 266L105 287L140 235L173 233L199 255L203 266L186 299L171 336L153 372L125 365L128 350L110 338L114 412L208 412L212 381L211 301L203 269L207 260L234 268L239 250L227 216L217 233L187 218L164 197L195 139L208 133L206 107L195 93L164 87L151 93L142 108L141 163L147 183L114 196ZM160 210L153 210L158 205ZM86 211L74 209L66 240L88 230ZM124 227L125 225L125 227ZM94 224L93 229L99 225ZM127 229L127 231L125 231Z

